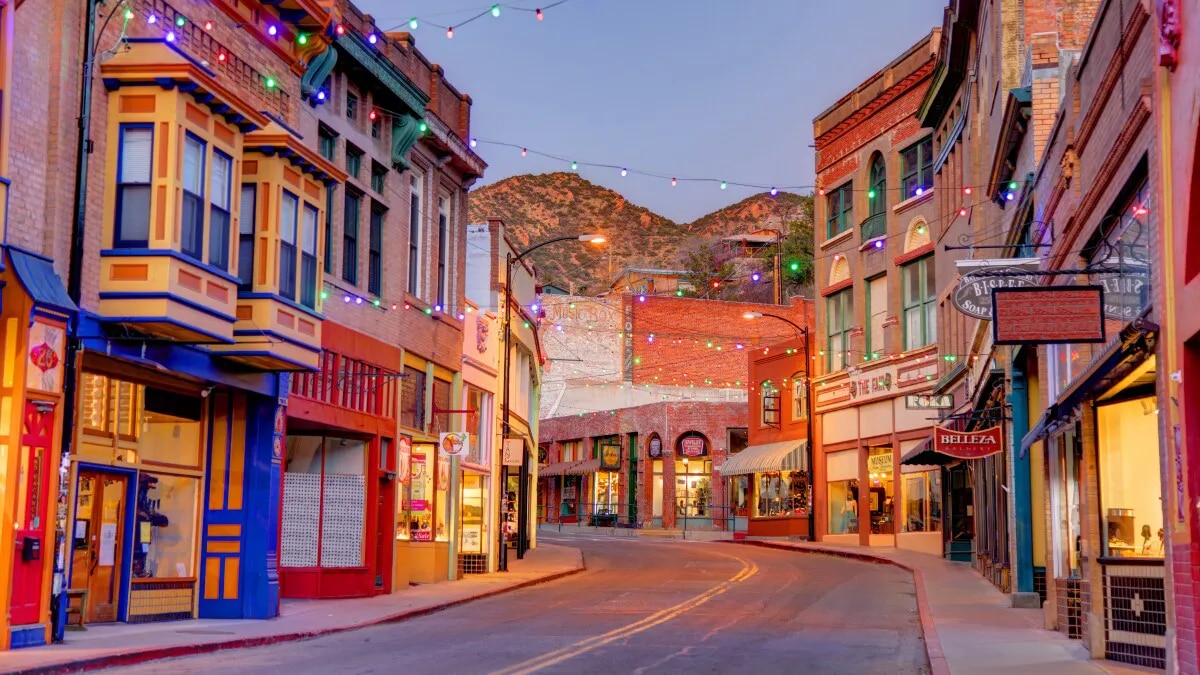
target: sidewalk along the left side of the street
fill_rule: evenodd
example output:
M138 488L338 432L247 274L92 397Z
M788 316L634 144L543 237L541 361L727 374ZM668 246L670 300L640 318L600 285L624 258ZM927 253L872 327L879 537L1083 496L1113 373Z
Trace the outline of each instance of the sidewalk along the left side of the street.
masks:
M540 544L524 560L510 556L509 572L472 574L460 581L413 586L373 598L283 601L266 621L192 620L109 623L66 634L66 643L4 652L0 673L74 673L227 649L305 640L377 623L403 621L456 604L541 584L583 571L578 549Z

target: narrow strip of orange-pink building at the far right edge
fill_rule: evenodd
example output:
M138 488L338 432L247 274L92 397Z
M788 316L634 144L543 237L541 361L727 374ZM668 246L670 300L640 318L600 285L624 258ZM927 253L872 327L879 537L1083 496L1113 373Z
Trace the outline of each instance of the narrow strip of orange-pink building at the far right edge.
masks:
M1175 602L1174 669L1200 670L1196 581L1200 569L1200 187L1196 165L1200 133L1193 101L1200 88L1200 32L1183 20L1200 16L1200 2L1154 4L1154 68L1152 199L1159 223L1159 265L1154 270L1156 303L1162 307L1159 419L1164 464L1163 503L1170 546L1168 589ZM1189 506L1192 504L1192 506ZM1168 633L1170 638L1171 633Z

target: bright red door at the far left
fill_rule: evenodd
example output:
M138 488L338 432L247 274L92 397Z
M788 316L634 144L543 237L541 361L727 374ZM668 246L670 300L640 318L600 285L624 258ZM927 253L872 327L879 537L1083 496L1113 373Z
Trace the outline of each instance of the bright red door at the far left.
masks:
M12 604L13 626L37 623L42 599L46 560L54 555L46 533L49 501L50 443L54 440L54 405L26 402L22 420L20 473L18 474L17 546L13 554Z

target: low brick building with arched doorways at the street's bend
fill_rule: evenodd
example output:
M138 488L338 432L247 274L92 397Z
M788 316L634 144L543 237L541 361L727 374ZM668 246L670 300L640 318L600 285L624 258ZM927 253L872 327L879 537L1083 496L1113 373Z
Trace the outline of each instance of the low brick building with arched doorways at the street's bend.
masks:
M744 402L701 401L542 419L539 521L732 530L720 467L745 424Z

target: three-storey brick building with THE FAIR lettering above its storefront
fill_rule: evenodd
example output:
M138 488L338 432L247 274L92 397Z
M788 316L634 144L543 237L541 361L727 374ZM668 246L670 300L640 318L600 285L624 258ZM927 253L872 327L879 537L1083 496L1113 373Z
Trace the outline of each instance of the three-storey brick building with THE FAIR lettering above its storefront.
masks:
M941 554L937 467L901 470L938 374L934 138L916 112L938 31L814 120L817 197L812 383L816 537ZM818 374L818 375L816 375Z

